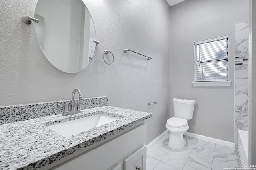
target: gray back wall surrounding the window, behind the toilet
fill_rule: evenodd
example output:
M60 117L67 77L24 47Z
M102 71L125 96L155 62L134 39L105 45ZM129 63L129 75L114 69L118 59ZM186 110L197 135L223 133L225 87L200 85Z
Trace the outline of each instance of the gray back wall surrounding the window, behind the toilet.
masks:
M234 142L234 24L248 20L248 1L187 0L170 8L172 98L196 100L191 133ZM192 86L194 42L229 36L230 86Z

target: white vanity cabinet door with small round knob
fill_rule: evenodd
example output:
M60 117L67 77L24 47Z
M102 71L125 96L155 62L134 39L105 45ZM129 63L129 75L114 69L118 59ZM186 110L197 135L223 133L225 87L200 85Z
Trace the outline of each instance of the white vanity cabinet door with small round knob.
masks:
M124 160L124 170L146 170L147 147L143 145Z

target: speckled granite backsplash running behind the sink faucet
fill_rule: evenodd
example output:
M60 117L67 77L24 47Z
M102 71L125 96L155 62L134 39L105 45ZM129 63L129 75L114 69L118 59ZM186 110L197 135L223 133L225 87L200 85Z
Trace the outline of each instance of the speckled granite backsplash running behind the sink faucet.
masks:
M102 107L108 105L107 97L84 98L81 103L82 109L90 109L94 107ZM69 110L71 109L71 100L44 102L36 104L23 104L15 106L1 106L0 107L0 125L12 123L17 121L24 121L45 117L50 115L61 114L64 111L64 106L57 106L58 104L65 104L68 102ZM76 100L77 106L77 100Z

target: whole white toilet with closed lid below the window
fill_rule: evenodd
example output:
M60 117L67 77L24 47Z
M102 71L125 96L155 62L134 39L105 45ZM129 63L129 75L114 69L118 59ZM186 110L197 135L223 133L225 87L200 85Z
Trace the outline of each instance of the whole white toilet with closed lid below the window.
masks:
M183 133L188 130L188 120L192 119L195 100L173 99L174 117L167 120L165 127L170 131L168 147L182 149L186 144Z

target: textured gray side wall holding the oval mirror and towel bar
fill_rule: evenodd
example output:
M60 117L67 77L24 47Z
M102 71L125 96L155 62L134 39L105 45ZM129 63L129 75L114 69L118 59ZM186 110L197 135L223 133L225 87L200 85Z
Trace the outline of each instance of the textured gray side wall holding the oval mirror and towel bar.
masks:
M34 30L21 17L34 16L37 1L0 1L0 106L108 96L108 105L153 113L147 143L166 128L170 89L170 7L166 0L86 0L100 44L92 63L77 74L56 69L44 57ZM130 48L153 59L132 52ZM104 49L114 54L104 63ZM110 54L110 53L109 53ZM157 105L148 106L156 100Z

